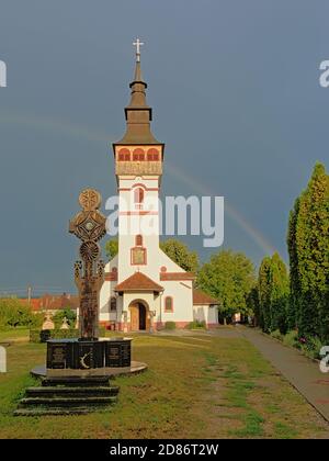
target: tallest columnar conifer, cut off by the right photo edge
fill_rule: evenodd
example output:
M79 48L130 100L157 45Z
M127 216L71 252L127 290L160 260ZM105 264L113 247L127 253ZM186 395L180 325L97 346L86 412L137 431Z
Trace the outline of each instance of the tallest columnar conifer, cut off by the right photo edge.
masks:
M329 339L329 176L316 164L298 202L295 246L299 277L300 336ZM294 261L293 261L294 262Z

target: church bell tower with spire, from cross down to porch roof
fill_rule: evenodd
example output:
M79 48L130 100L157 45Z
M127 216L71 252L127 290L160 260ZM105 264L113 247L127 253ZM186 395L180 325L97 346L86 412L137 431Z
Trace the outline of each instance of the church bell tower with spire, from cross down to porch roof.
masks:
M159 206L164 144L151 133L152 110L140 69L137 41L131 102L125 108L126 132L113 144L118 207L118 281L137 271L155 279L159 273ZM152 228L152 231L150 231Z

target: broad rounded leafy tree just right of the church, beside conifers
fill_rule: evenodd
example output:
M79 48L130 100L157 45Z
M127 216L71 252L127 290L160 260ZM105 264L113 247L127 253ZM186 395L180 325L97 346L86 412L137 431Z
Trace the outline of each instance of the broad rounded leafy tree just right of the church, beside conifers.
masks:
M243 254L231 250L213 255L197 276L197 286L220 302L219 313L226 319L236 313L250 314L247 296L253 285L252 262Z

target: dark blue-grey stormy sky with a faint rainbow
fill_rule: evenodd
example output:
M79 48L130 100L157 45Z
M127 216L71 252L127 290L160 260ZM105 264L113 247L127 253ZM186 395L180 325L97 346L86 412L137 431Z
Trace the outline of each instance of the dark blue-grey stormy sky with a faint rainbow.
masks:
M162 192L224 195L225 247L286 258L288 211L328 159L328 16L320 0L1 0L0 293L72 290L68 220L82 188L115 192L136 36Z

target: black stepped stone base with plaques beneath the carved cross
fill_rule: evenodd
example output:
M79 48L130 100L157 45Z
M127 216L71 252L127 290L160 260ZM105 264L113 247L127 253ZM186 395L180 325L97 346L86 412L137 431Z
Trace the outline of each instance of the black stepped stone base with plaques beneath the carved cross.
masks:
M29 387L15 416L84 414L109 409L118 387L110 378L137 373L146 363L132 362L131 338L52 339L47 366L31 371L42 386Z

